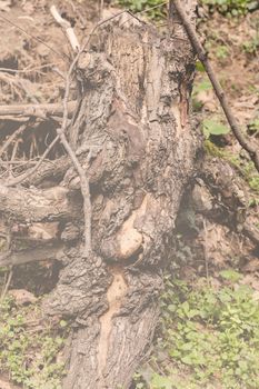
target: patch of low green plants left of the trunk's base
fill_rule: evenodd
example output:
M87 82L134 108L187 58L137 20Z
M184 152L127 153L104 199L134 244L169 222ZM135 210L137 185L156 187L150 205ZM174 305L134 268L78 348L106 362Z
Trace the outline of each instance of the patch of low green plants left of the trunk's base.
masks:
M63 323L56 330L40 326L29 329L28 316L39 308L20 308L11 298L0 303L0 372L27 389L59 389L64 366L57 355L64 343Z

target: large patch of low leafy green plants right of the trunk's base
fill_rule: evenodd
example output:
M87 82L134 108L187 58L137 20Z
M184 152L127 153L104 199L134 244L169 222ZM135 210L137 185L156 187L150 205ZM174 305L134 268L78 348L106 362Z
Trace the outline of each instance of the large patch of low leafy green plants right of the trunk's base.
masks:
M259 302L239 272L220 276L218 290L167 277L153 373L140 388L259 388Z

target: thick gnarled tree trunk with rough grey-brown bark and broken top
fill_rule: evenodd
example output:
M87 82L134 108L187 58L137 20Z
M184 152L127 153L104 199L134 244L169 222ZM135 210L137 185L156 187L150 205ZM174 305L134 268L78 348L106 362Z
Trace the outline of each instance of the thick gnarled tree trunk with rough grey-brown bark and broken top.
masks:
M191 1L186 4L193 17ZM52 197L32 212L34 200L24 208L24 198L12 199L21 220L59 222L49 257L57 245L63 268L44 309L73 322L64 389L127 389L150 347L162 269L199 148L189 108L193 72L193 51L173 14L163 37L128 13L114 18L81 56L81 98L67 134L90 181L90 258L82 255L82 199L72 166L58 187L60 207ZM22 190L29 199L36 189Z

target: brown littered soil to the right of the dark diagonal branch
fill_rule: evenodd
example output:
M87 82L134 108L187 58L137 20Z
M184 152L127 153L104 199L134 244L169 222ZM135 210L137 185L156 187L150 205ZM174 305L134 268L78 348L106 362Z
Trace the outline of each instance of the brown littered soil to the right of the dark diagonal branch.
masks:
M199 29L206 37L209 58L227 92L229 103L240 124L246 127L259 114L259 11L239 20L215 14ZM252 44L255 52L251 53L249 48L251 50ZM203 78L205 73L199 73L197 82ZM216 111L223 118L212 91L208 93L212 109L206 106L206 116Z

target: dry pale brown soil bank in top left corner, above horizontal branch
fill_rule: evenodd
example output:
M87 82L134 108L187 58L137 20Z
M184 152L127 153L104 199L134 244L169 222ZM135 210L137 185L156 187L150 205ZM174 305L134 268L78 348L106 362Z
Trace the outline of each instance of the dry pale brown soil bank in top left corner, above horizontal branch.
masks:
M0 4L1 6L1 4ZM0 103L58 102L71 50L44 0L14 1L0 9ZM80 41L97 21L94 1L57 1ZM4 71L7 69L7 71ZM10 71L8 71L8 69Z

